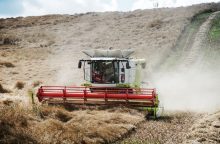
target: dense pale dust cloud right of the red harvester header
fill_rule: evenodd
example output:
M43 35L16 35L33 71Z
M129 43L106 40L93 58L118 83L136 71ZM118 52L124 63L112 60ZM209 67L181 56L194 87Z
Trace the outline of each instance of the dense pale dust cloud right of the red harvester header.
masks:
M166 110L213 112L220 108L220 70L183 70L153 76Z

